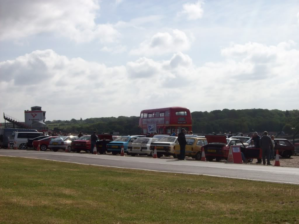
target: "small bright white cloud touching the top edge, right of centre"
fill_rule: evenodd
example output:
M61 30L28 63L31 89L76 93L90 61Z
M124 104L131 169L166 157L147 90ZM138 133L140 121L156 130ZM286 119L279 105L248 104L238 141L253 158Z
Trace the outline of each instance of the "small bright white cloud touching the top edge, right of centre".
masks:
M196 3L183 4L183 10L178 16L187 16L188 20L196 20L202 17L204 10L202 9L203 1L199 0Z

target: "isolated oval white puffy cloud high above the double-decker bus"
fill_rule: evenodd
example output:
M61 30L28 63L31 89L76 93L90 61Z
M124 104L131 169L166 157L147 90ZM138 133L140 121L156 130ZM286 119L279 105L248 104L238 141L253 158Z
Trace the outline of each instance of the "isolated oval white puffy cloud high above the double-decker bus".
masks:
M142 42L137 49L130 51L132 55L162 55L176 51L189 50L191 38L181 30L172 33L156 33L150 39Z

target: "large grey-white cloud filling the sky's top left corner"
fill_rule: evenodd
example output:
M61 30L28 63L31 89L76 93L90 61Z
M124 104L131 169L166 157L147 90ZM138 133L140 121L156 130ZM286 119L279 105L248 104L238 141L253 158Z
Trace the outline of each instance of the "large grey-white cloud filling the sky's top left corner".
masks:
M0 40L19 40L39 33L58 33L76 42L112 42L120 34L112 24L96 24L96 0L1 1Z

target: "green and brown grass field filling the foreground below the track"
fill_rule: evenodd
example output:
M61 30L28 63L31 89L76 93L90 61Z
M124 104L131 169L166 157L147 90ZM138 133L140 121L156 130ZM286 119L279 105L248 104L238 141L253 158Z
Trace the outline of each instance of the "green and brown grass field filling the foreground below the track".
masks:
M0 223L299 223L299 186L0 157Z

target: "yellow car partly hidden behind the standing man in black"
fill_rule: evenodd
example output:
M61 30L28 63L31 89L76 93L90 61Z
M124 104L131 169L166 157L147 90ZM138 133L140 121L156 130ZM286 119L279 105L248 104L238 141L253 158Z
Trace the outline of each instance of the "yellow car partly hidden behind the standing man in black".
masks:
M185 156L190 156L193 159L200 160L202 158L202 146L208 145L207 139L204 138L186 138L187 145L185 150ZM176 144L173 147L173 152L176 154L176 157L180 156L180 145Z

